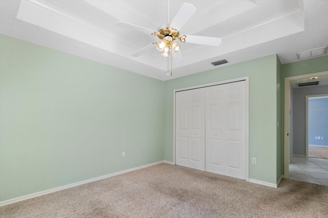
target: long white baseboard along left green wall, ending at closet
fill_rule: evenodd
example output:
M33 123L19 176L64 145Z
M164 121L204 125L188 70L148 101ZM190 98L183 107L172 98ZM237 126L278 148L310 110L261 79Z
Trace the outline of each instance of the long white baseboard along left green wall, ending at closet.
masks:
M25 200L28 200L28 199L31 199L31 198L36 198L36 197L39 197L39 196L47 195L49 193L64 190L64 189L67 189L67 188L72 188L72 187L75 187L75 186L78 186L78 185L83 185L83 184L86 184L86 183L98 181L98 180L101 180L101 179L106 179L106 178L117 176L117 175L120 175L120 174L129 173L131 171L136 171L137 169L142 169L142 168L157 165L157 164L160 164L160 163L173 164L170 161L162 160L162 161L158 161L158 162L155 162L155 163L150 163L150 164L146 164L146 165L142 165L142 166L137 166L137 167L134 167L134 168L131 168L131 169L126 169L124 171L119 171L119 172L116 172L116 173L107 174L107 175L104 175L104 176L99 176L99 177L95 177L95 178L92 178L92 179L87 179L87 180L83 180L83 181L80 181L80 182L75 182L75 183L71 183L71 184L68 184L68 185L63 185L63 186L56 187L56 188L51 188L51 189L44 190L44 191L39 191L39 192L36 192L36 193L32 193L30 195L26 195L26 196L22 196L22 197L2 201L2 202L0 202L0 207L8 205L8 204L13 204L13 203L16 203L16 202L19 202L19 201L25 201Z

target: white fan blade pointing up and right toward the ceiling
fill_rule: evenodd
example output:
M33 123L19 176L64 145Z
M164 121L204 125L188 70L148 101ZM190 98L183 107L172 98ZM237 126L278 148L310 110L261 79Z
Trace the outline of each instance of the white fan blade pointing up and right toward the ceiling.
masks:
M188 3L183 3L178 13L173 18L170 27L180 30L183 25L190 19L190 17L196 12L195 6Z

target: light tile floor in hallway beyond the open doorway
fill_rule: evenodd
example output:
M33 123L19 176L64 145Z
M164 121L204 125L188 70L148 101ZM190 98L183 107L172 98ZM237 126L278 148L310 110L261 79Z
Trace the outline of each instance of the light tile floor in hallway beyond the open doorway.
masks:
M289 178L328 186L328 159L293 157Z

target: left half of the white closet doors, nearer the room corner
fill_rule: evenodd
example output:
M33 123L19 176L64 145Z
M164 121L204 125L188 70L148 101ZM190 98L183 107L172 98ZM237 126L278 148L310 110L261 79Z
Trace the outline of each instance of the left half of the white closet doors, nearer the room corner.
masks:
M205 88L175 94L175 163L205 171Z

